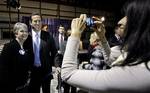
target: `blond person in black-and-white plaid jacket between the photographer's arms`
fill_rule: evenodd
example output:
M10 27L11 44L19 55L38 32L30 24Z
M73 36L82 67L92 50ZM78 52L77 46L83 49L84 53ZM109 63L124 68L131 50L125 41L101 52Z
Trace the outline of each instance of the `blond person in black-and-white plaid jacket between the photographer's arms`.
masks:
M108 65L105 63L105 58L103 50L101 48L101 43L99 37L95 32L91 33L90 36L90 48L89 48L89 62L82 62L83 69L87 70L103 70L108 69Z

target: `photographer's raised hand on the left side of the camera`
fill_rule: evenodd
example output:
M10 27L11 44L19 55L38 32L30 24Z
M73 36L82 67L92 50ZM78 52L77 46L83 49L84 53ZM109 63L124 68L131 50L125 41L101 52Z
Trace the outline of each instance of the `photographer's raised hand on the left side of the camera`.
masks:
M75 18L72 20L72 23L71 23L71 36L74 36L74 37L81 37L81 33L83 32L83 30L85 29L86 27L86 14L81 14L80 15L80 18Z

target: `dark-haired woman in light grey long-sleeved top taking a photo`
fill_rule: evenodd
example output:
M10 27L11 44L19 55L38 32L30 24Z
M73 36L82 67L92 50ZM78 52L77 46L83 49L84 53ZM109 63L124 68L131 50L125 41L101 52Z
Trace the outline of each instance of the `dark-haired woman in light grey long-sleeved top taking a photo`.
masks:
M62 79L92 93L150 93L150 1L134 0L127 6L124 61L108 70L79 70L77 54L86 15L73 19L62 64ZM109 56L104 25L94 22L103 50Z

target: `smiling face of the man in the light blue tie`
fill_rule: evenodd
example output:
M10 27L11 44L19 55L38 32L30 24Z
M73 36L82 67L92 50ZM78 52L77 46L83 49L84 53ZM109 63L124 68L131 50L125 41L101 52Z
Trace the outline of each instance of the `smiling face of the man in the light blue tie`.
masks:
M42 27L41 17L34 15L31 17L31 26L35 31L40 31Z

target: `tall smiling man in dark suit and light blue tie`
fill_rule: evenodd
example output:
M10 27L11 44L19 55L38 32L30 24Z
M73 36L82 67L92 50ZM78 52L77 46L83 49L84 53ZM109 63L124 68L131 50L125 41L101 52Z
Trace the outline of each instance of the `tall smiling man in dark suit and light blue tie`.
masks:
M52 65L56 54L56 47L53 37L41 30L41 16L37 13L31 16L31 33L27 39L28 48L33 51L33 65L29 93L50 93L52 76Z

